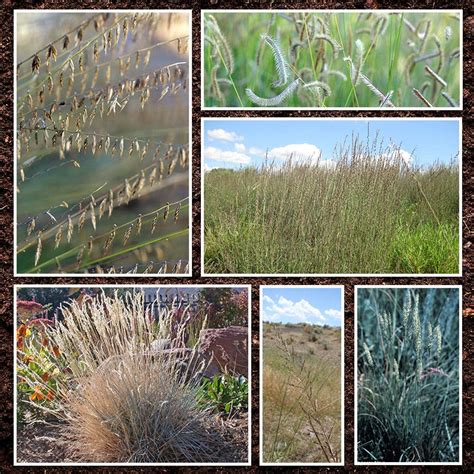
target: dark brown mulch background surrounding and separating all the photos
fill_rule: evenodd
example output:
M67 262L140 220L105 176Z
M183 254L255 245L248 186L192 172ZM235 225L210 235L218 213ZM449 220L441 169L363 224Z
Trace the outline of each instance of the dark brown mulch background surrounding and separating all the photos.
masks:
M343 284L345 285L345 468L331 468L331 472L350 470L354 471L354 383L353 383L353 335L354 335L354 288L356 284L463 284L463 470L474 470L474 297L473 297L473 213L474 213L474 164L473 148L474 136L472 129L473 120L473 27L474 16L471 2L448 2L443 0L420 0L405 2L387 1L346 1L334 2L320 1L219 1L210 0L203 2L162 1L135 2L111 1L18 1L4 0L0 13L0 472L21 470L24 472L61 470L85 471L84 468L13 468L13 284L15 283L79 283L77 278L13 278L13 9L14 8L193 8L193 278L130 278L128 283L159 284L159 283L240 283L252 284L252 356L253 356L253 381L252 381L252 467L251 468L225 468L225 471L256 471L258 468L258 285L272 284ZM429 117L456 117L459 112L278 112L278 111L251 111L251 112L203 112L200 111L200 8L463 8L464 9L464 111L463 117L463 277L462 278L201 278L200 261L200 118L217 116L321 116L321 117L355 117L355 116L417 116ZM123 279L114 278L88 278L89 283L121 283ZM279 468L282 471L288 468ZM87 471L101 472L158 472L157 468L89 468ZM190 468L168 468L163 471L175 472L189 471ZM201 471L211 470L202 468ZM310 469L299 468L298 471ZM328 469L315 469L327 471ZM357 467L357 471L382 472L383 467ZM439 471L455 472L460 468L454 467L417 467L393 468L392 471ZM222 472L222 470L221 470Z

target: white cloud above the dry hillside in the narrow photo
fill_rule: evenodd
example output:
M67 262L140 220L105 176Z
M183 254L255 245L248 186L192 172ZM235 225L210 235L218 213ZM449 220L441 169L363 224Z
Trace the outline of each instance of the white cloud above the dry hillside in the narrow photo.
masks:
M266 299L268 298L268 299ZM326 318L321 311L307 300L291 301L283 296L275 303L271 298L264 297L263 317L266 321L289 321L292 323L324 323Z

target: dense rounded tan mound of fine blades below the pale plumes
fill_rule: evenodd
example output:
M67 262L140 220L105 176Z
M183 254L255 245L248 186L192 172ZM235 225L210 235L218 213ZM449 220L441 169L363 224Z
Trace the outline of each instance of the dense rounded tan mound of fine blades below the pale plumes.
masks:
M71 456L85 462L217 462L226 446L196 386L159 357L123 357L70 400Z

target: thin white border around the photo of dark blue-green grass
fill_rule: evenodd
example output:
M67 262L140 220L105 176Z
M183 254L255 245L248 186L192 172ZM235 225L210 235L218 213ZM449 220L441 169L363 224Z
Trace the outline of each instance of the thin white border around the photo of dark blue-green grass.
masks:
M357 327L357 301L359 288L457 288L459 293L459 461L453 462L387 462L387 461L374 461L374 462L360 462L357 460L357 400L358 400L358 377L357 377L357 345L358 345L358 327ZM463 372L462 372L462 285L354 285L354 465L355 466L462 466L463 463L463 426L462 426L462 415L463 415Z

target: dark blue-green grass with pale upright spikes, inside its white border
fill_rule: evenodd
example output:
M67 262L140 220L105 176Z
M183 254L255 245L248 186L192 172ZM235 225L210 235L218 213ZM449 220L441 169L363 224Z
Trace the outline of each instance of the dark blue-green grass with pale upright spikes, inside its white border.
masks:
M459 460L457 288L357 294L357 459Z

